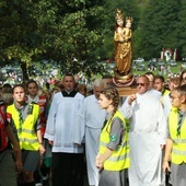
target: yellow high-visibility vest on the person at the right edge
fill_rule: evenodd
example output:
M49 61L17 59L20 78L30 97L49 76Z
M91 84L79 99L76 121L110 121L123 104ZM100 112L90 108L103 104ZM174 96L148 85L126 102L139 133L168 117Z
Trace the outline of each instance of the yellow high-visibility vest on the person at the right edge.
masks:
M177 108L172 108L168 115L170 133L173 140L172 159L175 164L186 163L186 119L184 119L181 128L181 136L177 137Z

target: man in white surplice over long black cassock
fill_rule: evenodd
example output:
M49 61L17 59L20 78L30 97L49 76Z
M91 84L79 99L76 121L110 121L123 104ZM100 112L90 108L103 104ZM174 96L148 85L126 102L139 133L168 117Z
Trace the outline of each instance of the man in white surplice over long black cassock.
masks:
M63 91L54 94L45 138L53 144L51 174L55 186L83 186L83 147L73 142L75 116L84 96L74 90L74 77L63 75Z

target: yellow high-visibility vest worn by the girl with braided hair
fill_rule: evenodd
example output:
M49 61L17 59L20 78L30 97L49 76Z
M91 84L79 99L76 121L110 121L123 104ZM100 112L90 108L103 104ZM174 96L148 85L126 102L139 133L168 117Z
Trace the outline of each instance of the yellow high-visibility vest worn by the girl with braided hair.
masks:
M124 168L129 167L129 143L128 143L128 131L126 126L126 120L120 112L116 112L114 118L120 118L123 120L123 125L125 127L124 138L116 150L113 151L113 154L104 162L104 170L107 171L121 171ZM111 127L113 119L108 120L102 130L100 138L100 154L104 154L106 151L106 146L111 139Z

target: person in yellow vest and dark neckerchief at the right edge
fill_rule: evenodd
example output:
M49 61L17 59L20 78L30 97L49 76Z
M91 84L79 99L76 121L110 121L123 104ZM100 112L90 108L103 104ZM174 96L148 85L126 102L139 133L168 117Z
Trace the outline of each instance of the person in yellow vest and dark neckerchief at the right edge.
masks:
M173 186L186 185L186 84L171 91L174 106L168 115L168 136L166 140L163 171L171 172ZM171 159L171 167L168 161Z

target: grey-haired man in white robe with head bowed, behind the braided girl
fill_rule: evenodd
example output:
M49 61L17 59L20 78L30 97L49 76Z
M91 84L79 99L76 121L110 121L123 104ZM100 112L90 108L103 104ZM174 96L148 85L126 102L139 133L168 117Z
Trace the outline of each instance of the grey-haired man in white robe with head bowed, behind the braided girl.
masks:
M100 93L106 88L106 82L96 79L93 83L93 95L84 98L77 116L73 140L81 144L85 136L85 156L89 185L98 186L98 170L95 166L95 156L98 151L101 129L106 112L98 106ZM82 131L80 129L83 129ZM78 132L77 132L78 131ZM78 140L79 139L79 140Z

